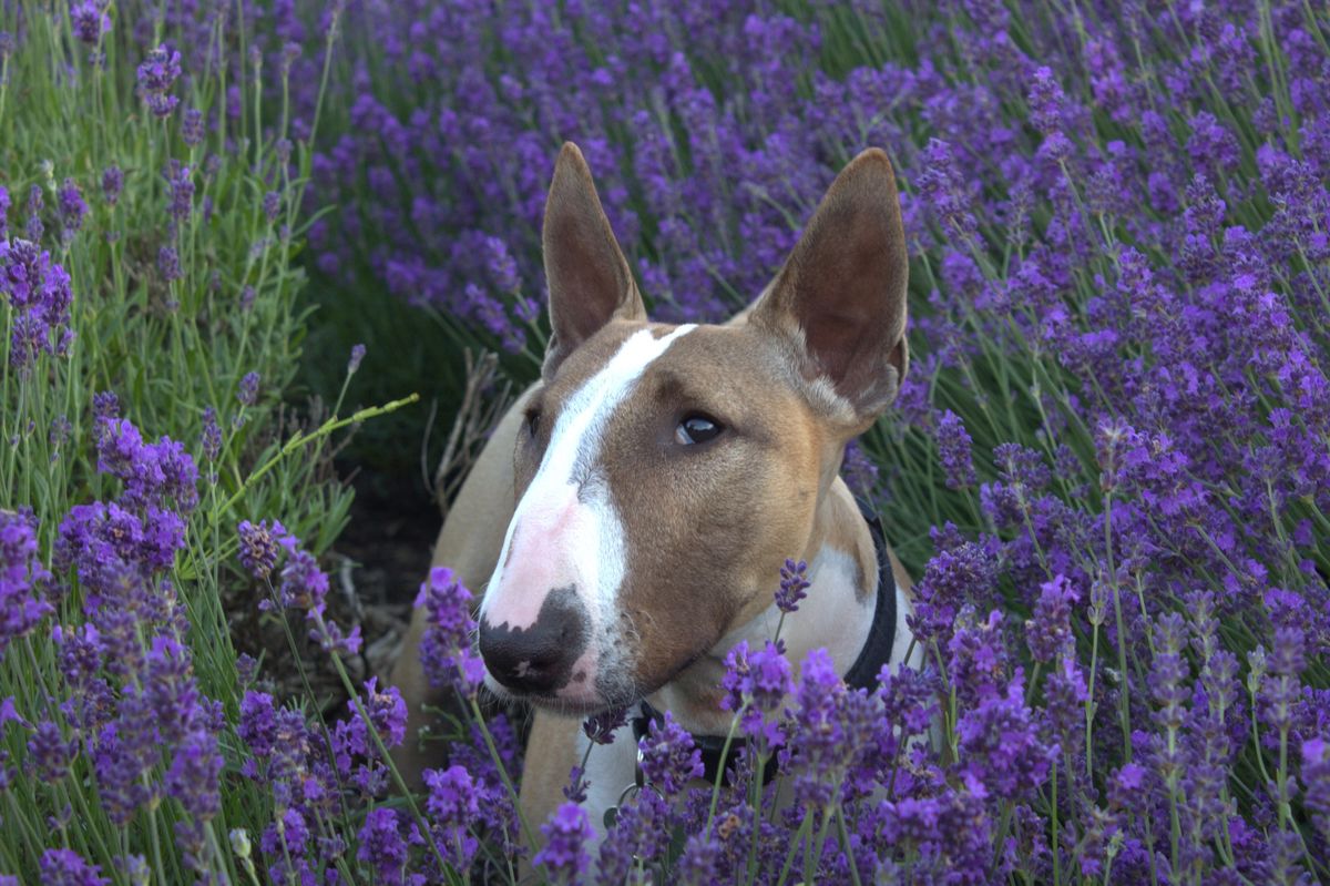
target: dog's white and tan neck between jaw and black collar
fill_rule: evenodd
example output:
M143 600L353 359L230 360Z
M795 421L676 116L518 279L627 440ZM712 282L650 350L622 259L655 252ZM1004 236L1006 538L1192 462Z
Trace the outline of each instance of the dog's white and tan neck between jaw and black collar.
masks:
M720 706L725 656L741 640L746 640L750 649L761 649L775 637L777 625L781 625L786 657L795 668L810 651L823 647L843 676L867 641L879 573L872 533L842 480L831 484L818 507L801 557L809 564L810 587L795 612L787 613L781 623L773 581L771 603L654 692L648 698L650 705L672 712L694 734L725 734L732 717Z

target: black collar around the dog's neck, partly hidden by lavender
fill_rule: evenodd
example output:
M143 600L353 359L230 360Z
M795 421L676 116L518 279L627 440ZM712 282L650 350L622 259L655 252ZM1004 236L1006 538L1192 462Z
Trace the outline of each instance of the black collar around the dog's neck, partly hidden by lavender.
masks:
M845 682L851 689L875 689L878 674L882 666L891 661L891 649L896 640L896 579L891 572L891 557L887 555L887 537L882 529L882 520L876 511L861 498L855 498L859 514L868 523L868 532L872 535L872 547L878 553L878 605L872 613L872 624L868 625L868 639L859 651L859 657L854 660L845 674ZM632 717L633 738L638 742L646 736L652 722L661 722L664 714L642 700L638 712ZM738 757L739 749L746 741L743 738L730 740L729 753L725 750L725 736L693 736L693 744L702 752L702 765L706 768L706 781L716 784L717 774L721 784L730 782L730 768ZM642 784L641 753L638 753L637 784ZM766 761L766 770L762 773L762 784L767 784L775 777L775 757Z

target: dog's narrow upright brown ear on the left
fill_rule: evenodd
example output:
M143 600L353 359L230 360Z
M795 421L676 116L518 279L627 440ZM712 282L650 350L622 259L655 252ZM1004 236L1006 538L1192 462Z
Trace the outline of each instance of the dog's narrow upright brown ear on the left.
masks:
M646 319L591 169L571 141L564 142L555 164L543 242L552 334L541 375L548 382L559 365L612 318Z

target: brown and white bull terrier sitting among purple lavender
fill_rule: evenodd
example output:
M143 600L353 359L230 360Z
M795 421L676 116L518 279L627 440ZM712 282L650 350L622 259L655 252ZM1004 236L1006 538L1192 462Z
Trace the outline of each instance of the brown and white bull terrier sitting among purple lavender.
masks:
M773 636L787 557L807 561L810 583L782 628L791 663L825 647L842 674L871 682L878 665L918 655L910 576L839 478L846 443L906 374L908 262L878 149L841 172L775 279L725 325L648 321L571 142L543 245L541 378L480 454L434 561L484 591L485 685L535 708L519 798L532 827L564 802L587 750L580 718L637 712L589 757L598 831L634 784L648 712L670 712L700 742L725 736L725 655ZM438 702L424 629L416 611L392 673L411 736ZM408 778L428 762L414 741L399 757Z

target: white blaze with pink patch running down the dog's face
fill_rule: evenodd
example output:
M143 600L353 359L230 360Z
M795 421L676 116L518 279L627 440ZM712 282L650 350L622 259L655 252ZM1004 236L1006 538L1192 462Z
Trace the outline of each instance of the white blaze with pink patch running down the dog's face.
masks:
M626 572L622 521L597 467L605 428L646 367L693 329L680 326L661 338L646 329L633 333L568 398L480 603L488 624L527 629L552 589L572 585L595 621L587 651L595 661L596 639L614 624Z

